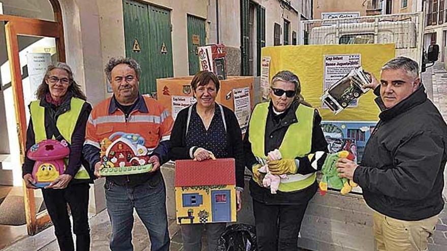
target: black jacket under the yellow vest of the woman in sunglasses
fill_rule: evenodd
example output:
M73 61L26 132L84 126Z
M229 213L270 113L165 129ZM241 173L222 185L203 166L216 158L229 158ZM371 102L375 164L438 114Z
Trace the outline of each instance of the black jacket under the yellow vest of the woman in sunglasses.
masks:
M269 112L267 115L266 131L264 133L265 137L265 154L267 155L270 151L278 149L281 145L282 139L284 138L285 132L289 129L291 124L299 122L299 118L296 116L296 111L298 106L302 105L298 102L292 103L287 111L280 115L275 115L273 113L272 103L269 105ZM313 116L313 128L312 128L312 139L311 139L311 149L310 153L315 153L316 151L328 152L328 143L326 142L323 130L321 128L321 117L320 114L315 110ZM310 132L303 132L309 134ZM244 153L245 160L248 169L251 171L251 166L256 164L256 158L254 158L251 152L251 143L248 140L248 129L244 137ZM298 173L308 174L310 172L315 172L315 169L310 166L307 157L296 159L300 160L300 166L298 167ZM259 186L252 179L250 180L250 194L254 200L263 202L266 204L303 204L307 203L315 194L317 190L316 182L300 191L295 192L281 192L277 191L277 194L271 194L270 189Z

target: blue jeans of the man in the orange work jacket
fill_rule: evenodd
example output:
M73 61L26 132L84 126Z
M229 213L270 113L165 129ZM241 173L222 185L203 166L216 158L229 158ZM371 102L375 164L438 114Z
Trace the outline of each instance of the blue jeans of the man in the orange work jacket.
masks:
M150 179L136 186L118 186L106 181L106 203L112 223L112 251L133 250L132 228L134 208L147 231L151 251L169 250L168 218L166 213L166 188L163 177Z

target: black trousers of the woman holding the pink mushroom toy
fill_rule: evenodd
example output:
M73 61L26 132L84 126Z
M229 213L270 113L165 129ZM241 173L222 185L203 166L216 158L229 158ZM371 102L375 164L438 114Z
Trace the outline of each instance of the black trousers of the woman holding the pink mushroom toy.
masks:
M90 250L88 226L88 183L70 184L65 189L42 189L45 206L54 225L54 234L61 251L74 251L67 204L73 217L76 250Z

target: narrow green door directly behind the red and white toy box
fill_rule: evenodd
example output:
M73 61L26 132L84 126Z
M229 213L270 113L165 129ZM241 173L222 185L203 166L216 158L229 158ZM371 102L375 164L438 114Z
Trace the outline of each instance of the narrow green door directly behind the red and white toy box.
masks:
M199 56L197 47L206 43L205 19L187 15L188 25L188 62L189 75L195 75L199 71Z

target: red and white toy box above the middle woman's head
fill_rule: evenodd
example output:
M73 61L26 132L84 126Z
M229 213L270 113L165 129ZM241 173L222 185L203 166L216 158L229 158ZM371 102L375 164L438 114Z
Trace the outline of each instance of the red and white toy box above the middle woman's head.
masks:
M212 71L219 80L227 79L227 51L225 45L207 45L199 50L200 70Z

